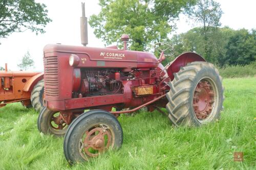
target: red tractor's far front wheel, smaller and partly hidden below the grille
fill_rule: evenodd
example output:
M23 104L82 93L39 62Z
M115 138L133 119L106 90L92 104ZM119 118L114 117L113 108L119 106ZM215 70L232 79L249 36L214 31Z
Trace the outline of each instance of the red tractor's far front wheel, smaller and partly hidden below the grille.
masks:
M52 111L44 107L38 116L37 128L39 132L45 135L50 134L60 137L65 135L68 125L58 111Z

